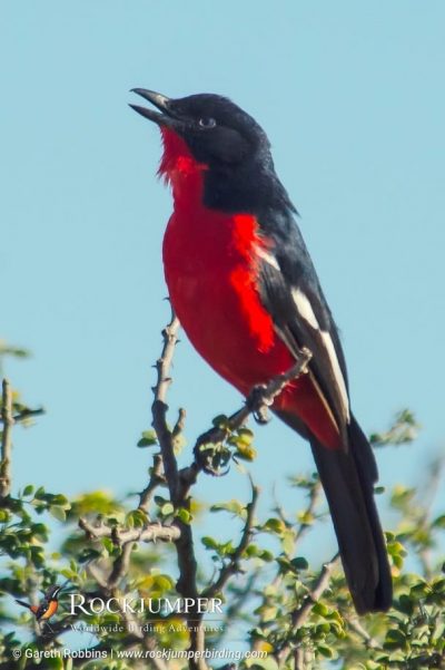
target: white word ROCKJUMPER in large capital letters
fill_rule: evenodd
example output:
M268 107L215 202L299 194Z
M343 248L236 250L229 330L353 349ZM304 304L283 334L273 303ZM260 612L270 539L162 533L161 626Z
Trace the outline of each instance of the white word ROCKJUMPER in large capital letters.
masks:
M150 614L222 614L222 600L220 598L177 598L169 600L168 598L92 598L87 599L81 593L70 593L70 610L72 615L83 614L120 614L121 612L130 612L132 614L141 614L149 612Z

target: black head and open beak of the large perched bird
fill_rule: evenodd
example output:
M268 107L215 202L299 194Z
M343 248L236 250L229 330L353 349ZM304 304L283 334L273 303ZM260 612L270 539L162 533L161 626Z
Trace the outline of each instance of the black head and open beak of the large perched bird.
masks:
M144 88L135 88L134 93L159 110L131 105L138 114L161 129L172 130L192 157L208 166L204 194L207 206L253 213L266 204L293 208L275 174L266 133L235 103L214 94L172 99Z

